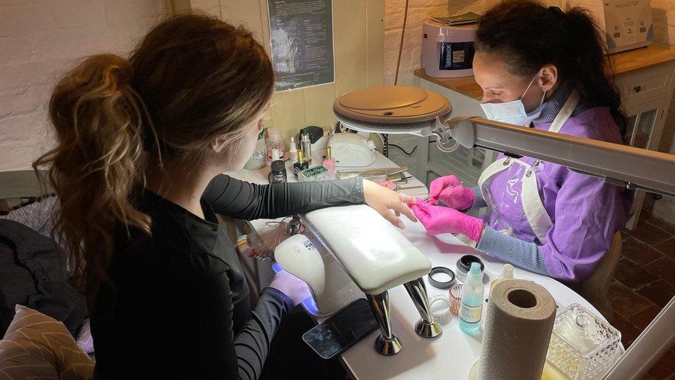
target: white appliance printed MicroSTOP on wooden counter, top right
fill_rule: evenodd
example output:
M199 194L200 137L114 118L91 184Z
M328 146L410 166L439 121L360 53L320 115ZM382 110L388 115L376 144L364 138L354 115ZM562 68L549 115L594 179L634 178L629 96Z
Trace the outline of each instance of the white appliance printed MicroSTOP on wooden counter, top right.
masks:
M567 0L568 9L588 9L607 39L609 53L649 45L654 40L649 0Z

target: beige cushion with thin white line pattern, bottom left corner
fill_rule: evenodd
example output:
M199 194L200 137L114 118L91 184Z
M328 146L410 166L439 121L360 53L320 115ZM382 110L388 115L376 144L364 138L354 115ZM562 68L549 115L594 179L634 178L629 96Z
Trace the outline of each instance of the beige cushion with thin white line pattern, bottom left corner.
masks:
M17 305L0 341L0 379L91 379L93 360L63 323Z

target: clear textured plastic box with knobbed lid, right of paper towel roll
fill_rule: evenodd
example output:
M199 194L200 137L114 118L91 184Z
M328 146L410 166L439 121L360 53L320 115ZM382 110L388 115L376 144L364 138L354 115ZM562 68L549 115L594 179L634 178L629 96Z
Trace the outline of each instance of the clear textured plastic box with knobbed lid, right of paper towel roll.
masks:
M579 304L553 323L546 361L572 380L599 379L618 359L621 333Z

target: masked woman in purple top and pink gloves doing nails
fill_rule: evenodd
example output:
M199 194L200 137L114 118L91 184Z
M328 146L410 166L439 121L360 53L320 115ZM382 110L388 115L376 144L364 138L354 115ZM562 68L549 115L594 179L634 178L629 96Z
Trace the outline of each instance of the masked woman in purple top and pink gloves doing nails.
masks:
M586 12L506 1L481 17L473 69L488 118L621 143L625 116ZM455 176L411 205L427 233L462 233L477 250L568 284L586 278L627 221L632 192L530 157L499 154L465 188ZM445 203L446 206L440 205ZM464 214L489 208L485 219Z

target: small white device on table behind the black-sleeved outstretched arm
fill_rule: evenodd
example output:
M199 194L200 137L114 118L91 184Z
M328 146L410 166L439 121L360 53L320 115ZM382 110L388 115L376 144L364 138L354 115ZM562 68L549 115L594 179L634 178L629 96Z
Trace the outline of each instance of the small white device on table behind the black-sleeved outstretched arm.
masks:
M340 168L362 168L375 163L375 143L358 134L333 134L329 145L335 166Z

